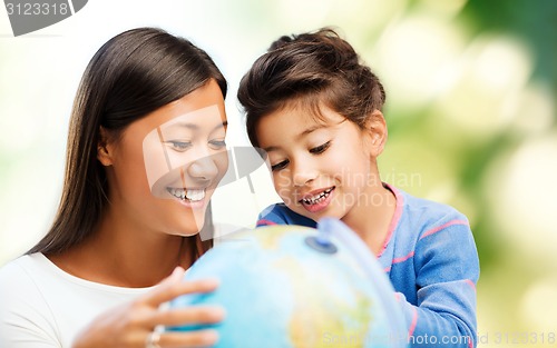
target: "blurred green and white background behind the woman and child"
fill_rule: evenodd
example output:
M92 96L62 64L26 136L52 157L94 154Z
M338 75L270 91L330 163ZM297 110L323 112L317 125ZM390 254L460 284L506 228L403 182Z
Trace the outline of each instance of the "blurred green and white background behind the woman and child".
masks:
M71 100L108 38L156 26L205 48L229 81L228 143L247 145L235 91L250 63L278 36L332 26L387 89L383 180L470 219L480 347L557 346L557 1L90 0L18 38L0 12L0 265L52 219ZM237 223L276 200L256 182Z

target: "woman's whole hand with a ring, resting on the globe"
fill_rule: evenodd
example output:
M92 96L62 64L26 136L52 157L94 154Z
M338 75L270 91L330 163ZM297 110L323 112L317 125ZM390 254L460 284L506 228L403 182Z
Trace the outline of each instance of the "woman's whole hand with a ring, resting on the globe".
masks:
M74 341L74 348L145 348L149 335L159 325L183 326L214 324L223 320L224 310L219 307L159 309L162 304L180 295L209 292L218 286L216 280L183 281L184 272L183 268L176 268L168 278L148 294L95 319L78 335ZM206 347L213 346L217 339L217 332L211 329L189 332L169 331L160 332L158 346L162 348Z

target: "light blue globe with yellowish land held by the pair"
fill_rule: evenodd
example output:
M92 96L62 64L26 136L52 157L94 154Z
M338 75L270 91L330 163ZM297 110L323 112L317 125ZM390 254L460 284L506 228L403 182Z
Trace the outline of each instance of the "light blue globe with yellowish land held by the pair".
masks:
M185 279L218 278L211 294L184 295L170 308L219 305L215 347L405 347L407 328L374 256L341 221L317 228L267 226L233 233Z

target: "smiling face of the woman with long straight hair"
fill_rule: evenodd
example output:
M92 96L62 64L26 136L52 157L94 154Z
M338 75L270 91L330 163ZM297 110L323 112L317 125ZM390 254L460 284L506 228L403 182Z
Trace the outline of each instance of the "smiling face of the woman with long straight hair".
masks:
M110 211L137 229L197 233L224 176L226 113L218 84L205 86L129 125L107 145Z

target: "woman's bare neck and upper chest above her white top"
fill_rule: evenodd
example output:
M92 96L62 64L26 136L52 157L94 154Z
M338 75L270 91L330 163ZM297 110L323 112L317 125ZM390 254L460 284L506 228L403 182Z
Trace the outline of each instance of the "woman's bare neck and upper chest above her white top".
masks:
M189 268L192 249L184 237L133 230L105 219L91 238L48 257L62 270L86 280L144 288L158 284L176 266Z

